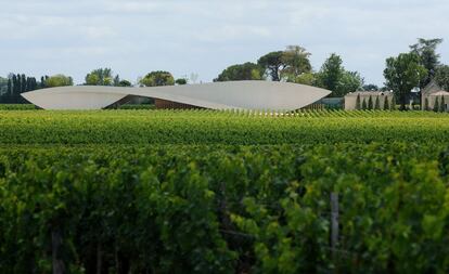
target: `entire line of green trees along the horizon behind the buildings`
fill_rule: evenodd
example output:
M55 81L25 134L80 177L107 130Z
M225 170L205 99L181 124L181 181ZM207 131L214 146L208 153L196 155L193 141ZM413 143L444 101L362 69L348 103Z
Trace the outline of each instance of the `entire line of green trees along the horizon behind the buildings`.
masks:
M419 38L410 51L386 60L383 74L385 86L365 84L358 71L347 70L343 58L332 53L318 71L310 64L311 53L300 45L288 45L283 51L273 51L260 56L257 62L235 64L223 69L214 81L271 80L309 84L331 90L331 97L341 97L355 91L393 91L400 109L406 109L412 91L421 91L432 81L449 90L449 66L440 63L437 47L442 39ZM192 75L195 82L197 75ZM141 87L187 84L187 77L175 79L169 71L156 70L138 79ZM65 75L44 76L40 81L24 74L11 74L0 78L0 103L23 103L22 92L41 88L73 86L73 79ZM120 79L111 68L93 69L85 77L82 84L131 87L129 80ZM416 94L415 93L415 94ZM421 100L420 100L421 104ZM423 106L424 107L424 106Z

